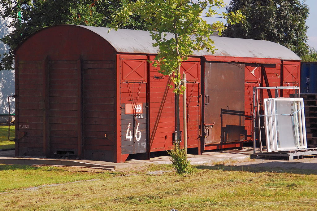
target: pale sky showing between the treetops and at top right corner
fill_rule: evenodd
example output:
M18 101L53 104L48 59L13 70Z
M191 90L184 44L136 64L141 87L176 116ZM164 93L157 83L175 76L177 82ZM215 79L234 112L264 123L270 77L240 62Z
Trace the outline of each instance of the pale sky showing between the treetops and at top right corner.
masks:
M223 0L225 3L229 3L230 0ZM309 46L314 46L317 49L317 0L306 0L305 3L309 7L309 18L306 20L307 36ZM219 12L224 12L224 8L218 10ZM207 23L213 23L214 21L222 21L221 18L206 18Z

